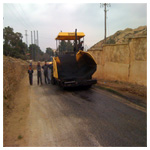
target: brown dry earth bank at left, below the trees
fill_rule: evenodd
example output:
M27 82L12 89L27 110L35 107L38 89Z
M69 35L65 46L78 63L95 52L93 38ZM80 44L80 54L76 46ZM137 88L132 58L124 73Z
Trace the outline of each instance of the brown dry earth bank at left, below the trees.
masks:
M13 107L10 101L27 69L27 61L3 56L3 98L7 108Z

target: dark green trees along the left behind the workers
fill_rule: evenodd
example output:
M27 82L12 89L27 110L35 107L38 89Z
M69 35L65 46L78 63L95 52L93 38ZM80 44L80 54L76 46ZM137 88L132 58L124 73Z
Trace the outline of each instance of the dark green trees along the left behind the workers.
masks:
M22 41L22 34L14 32L13 28L5 27L3 29L3 54L24 60L49 60L50 56L54 56L52 48L46 48L44 53L36 44L30 44L29 47Z

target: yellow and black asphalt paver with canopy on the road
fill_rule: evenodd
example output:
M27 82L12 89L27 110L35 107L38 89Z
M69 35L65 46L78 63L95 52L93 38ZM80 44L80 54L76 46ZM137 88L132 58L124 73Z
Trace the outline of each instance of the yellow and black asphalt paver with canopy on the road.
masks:
M83 32L77 32L77 30L58 34L56 45L58 40L59 43L60 40L74 41L74 51L62 52L59 48L57 49L57 56L53 57L52 84L58 84L62 87L90 87L97 83L96 79L92 79L97 68L94 58L90 53L83 51L83 47L77 45L77 42L80 43L84 36Z

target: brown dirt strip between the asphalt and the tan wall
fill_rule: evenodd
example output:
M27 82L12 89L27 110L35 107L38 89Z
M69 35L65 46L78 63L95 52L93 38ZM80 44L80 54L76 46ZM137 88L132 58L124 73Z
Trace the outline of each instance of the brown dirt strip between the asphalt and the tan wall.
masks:
M147 108L147 88L118 81L99 81L95 88L111 92L138 106Z

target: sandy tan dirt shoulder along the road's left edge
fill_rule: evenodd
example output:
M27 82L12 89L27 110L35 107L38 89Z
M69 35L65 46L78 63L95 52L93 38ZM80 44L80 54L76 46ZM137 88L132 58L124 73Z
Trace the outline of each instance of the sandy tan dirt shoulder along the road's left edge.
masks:
M30 107L29 88L28 76L25 75L13 96L13 109L4 113L4 147L26 146L26 120Z

